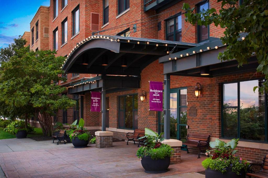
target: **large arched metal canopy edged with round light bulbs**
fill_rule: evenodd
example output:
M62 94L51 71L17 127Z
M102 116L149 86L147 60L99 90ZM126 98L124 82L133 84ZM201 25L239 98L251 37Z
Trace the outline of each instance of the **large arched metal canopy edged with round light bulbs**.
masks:
M175 46L174 52L198 46L194 43L105 35L94 35L79 43L67 56L63 66L65 73L140 76L142 69ZM103 59L108 60L107 66L102 66ZM121 66L123 60L126 60L126 67ZM87 61L88 65L82 65L83 61Z

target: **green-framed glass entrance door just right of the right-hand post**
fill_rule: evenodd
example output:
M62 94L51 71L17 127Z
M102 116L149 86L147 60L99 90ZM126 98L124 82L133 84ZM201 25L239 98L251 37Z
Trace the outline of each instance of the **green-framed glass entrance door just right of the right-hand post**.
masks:
M170 138L187 136L187 88L170 90ZM182 140L183 141L183 140Z

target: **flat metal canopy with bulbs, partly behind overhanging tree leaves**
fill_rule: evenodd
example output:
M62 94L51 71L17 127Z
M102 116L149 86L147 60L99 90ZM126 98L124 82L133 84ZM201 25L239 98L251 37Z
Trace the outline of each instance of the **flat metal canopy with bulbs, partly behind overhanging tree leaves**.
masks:
M241 35L241 37L245 35ZM241 40L241 37L238 40ZM220 39L215 39L217 38L213 38L209 43L160 57L159 63L164 64L164 74L216 77L256 71L258 61L255 56L248 59L248 64L244 64L240 68L237 67L238 62L236 60L221 62L218 59L218 54L224 52L226 45L223 45ZM209 70L209 75L200 75L201 70L204 68Z

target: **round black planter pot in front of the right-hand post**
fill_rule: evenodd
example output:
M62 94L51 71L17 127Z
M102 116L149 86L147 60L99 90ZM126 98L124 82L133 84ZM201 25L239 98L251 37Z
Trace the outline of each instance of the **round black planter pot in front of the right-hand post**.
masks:
M153 160L151 156L144 156L142 158L142 167L146 173L163 173L168 171L170 164L170 156L164 159Z

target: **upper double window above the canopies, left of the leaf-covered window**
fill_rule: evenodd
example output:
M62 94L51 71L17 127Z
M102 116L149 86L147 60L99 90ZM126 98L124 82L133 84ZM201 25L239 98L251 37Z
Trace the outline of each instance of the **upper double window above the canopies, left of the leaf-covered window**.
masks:
M181 14L166 21L166 39L169 41L180 41L181 39Z

